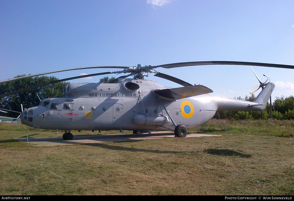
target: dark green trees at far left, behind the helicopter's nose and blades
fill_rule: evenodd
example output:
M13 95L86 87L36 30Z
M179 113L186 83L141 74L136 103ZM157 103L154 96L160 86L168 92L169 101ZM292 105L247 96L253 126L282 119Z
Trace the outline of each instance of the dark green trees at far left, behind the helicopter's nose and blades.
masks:
M25 75L18 75L16 77L21 77ZM38 84L48 83L51 81L56 81L58 78L51 76L37 76L34 78L24 78L15 81L9 81L3 84L0 84L0 94L5 94L11 91L16 91L22 88L26 88L29 86L35 86ZM0 101L0 108L7 109L7 110L14 110L14 111L21 111L21 104L23 108L30 108L36 105L39 105L40 99L45 98L56 98L56 97L63 97L62 91L64 87L69 84L66 82L59 82L52 85L42 86L34 89L30 89L24 92L16 93L10 96L6 96L1 98ZM38 94L38 96L37 96ZM8 112L5 114L1 114L2 116L9 116L9 117L17 117L19 114Z

